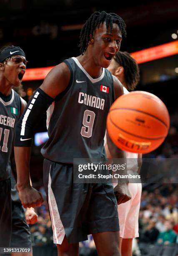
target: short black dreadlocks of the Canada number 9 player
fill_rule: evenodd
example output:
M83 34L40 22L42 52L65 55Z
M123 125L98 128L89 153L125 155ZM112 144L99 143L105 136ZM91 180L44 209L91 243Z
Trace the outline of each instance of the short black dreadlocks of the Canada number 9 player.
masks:
M80 32L80 52L81 54L84 54L88 47L88 42L90 39L90 35L93 35L96 28L99 28L99 26L103 23L106 23L107 31L113 30L113 23L116 23L118 27L120 28L120 31L122 35L126 36L125 31L125 22L123 21L120 16L118 16L115 13L106 13L105 11L95 12L93 13L90 18L85 22L81 32Z

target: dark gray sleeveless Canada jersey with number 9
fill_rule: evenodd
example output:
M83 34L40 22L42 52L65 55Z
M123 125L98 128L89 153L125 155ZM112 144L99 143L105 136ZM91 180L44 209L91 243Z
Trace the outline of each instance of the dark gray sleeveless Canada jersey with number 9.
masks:
M41 153L46 159L73 163L73 158L105 157L106 118L113 102L113 77L103 68L93 79L75 57L64 61L70 83L47 111L49 139Z

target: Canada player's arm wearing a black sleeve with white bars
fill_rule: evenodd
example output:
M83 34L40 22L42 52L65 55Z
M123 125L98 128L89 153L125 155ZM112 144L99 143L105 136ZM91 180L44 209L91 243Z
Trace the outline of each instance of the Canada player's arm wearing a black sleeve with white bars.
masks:
M65 63L54 67L30 98L16 125L14 153L17 187L25 208L40 206L43 202L40 192L30 185L29 165L34 127L40 123L55 97L68 87L69 81L70 70Z

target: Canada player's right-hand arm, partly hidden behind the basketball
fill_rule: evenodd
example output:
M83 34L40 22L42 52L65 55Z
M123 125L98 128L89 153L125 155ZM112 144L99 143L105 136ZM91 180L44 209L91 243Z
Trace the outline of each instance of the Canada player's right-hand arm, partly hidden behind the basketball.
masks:
M114 95L115 99L123 95L123 86L120 81L113 76L113 84L114 84ZM107 145L105 146L107 158L112 157L113 159L120 158L120 164L126 163L126 154L123 150L116 147L113 141L110 139L107 133ZM122 175L127 174L127 170L124 170ZM131 195L128 189L128 179L122 180L123 183L118 183L118 185L114 188L114 194L117 199L118 205L127 202L131 199Z

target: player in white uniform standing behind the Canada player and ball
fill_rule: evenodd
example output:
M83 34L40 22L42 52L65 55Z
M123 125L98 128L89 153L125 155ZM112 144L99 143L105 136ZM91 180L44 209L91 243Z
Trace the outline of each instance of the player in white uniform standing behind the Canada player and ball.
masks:
M128 52L119 51L111 61L108 70L123 84L124 94L133 91L139 82L139 68ZM107 157L109 152L106 149ZM126 152L130 172L139 172L142 154ZM131 200L118 205L120 225L120 252L122 256L132 256L132 240L138 237L138 215L140 210L141 183L129 183Z

